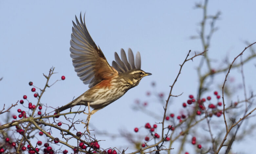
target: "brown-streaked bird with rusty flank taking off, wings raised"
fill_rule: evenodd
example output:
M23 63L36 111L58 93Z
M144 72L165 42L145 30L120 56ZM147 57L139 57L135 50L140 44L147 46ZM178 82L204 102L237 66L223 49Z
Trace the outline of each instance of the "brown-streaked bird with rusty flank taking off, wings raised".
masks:
M128 59L124 49L121 49L121 59L115 52L115 61L109 65L103 52L97 47L85 25L85 14L80 22L75 15L70 40L70 56L75 72L84 84L89 84L89 89L82 95L68 103L58 107L55 112L59 113L73 106L88 106L87 131L92 114L108 106L129 89L138 86L140 80L151 73L140 69L141 58L139 51L134 58L132 50L128 49ZM90 111L90 107L94 110Z

